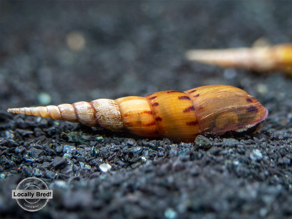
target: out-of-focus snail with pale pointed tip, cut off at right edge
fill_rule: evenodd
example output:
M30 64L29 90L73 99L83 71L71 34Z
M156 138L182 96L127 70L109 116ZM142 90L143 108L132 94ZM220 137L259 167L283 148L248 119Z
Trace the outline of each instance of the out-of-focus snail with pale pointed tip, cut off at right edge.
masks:
M236 67L257 72L280 71L292 76L292 44L252 48L189 50L186 58L220 67Z

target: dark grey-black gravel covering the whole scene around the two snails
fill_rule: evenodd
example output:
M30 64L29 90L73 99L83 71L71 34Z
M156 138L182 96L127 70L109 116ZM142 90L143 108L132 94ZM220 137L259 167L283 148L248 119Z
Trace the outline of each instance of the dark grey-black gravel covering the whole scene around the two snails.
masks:
M0 4L1 218L292 217L291 78L184 58L192 48L291 41L292 1ZM83 47L70 47L74 33ZM6 112L208 84L259 100L269 110L261 131L181 143ZM11 198L27 177L53 190L40 211Z

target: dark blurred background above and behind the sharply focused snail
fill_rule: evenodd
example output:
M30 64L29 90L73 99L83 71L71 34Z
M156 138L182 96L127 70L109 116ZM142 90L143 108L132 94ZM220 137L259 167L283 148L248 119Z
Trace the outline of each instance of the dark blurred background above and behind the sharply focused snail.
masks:
M259 38L289 42L291 7L291 1L1 1L1 110L208 84L244 88L263 103L287 100L291 81L281 74L191 63L184 53L250 47Z

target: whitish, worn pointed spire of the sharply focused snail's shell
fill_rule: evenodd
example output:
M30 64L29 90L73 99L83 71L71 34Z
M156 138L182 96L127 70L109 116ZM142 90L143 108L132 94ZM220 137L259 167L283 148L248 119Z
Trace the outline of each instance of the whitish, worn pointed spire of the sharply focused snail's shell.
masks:
M119 105L114 100L98 99L91 102L76 102L46 107L23 107L8 109L8 112L41 116L87 126L101 126L112 131L124 131Z

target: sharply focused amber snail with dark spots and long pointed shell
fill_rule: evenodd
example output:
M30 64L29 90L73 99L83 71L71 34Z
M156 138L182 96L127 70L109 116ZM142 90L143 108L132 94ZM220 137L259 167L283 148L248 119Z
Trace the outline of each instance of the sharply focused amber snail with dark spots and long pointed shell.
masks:
M247 92L227 85L208 85L188 91L160 91L145 97L97 99L46 107L8 109L175 142L193 141L200 133L246 131L263 121L268 111Z

